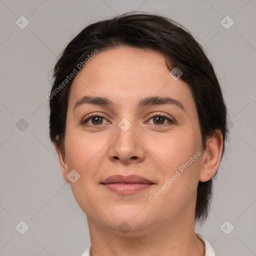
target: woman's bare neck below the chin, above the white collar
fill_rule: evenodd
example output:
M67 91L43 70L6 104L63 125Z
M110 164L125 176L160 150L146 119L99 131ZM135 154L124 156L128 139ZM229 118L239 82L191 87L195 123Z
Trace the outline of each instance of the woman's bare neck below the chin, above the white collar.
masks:
M162 221L131 229L122 234L119 229L102 228L87 218L92 255L104 256L204 256L204 243L194 233L194 221L187 218Z

